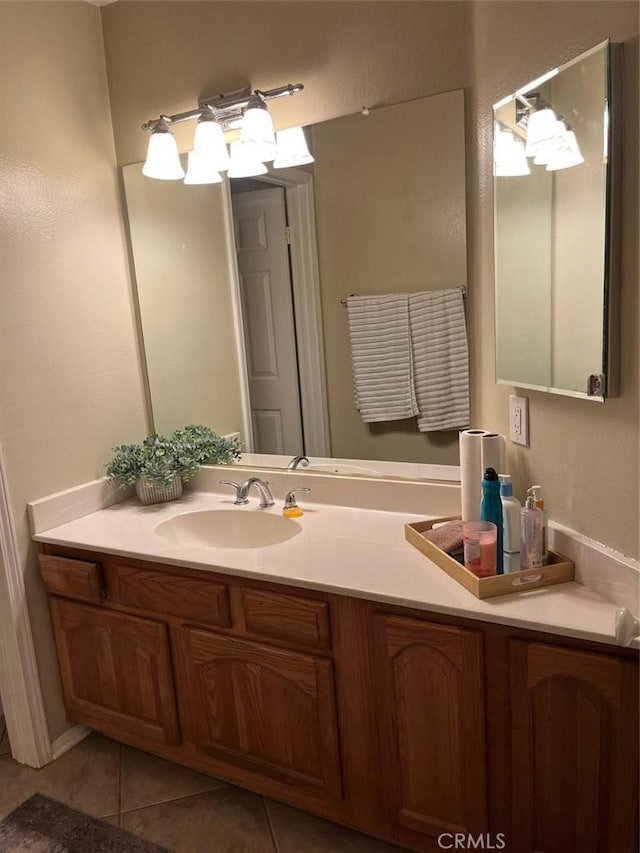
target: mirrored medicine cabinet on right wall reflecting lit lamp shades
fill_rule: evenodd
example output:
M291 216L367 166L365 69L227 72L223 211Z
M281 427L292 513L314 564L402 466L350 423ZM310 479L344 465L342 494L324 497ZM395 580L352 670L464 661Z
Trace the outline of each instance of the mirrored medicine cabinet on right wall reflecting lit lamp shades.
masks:
M610 45L494 106L496 378L616 393Z

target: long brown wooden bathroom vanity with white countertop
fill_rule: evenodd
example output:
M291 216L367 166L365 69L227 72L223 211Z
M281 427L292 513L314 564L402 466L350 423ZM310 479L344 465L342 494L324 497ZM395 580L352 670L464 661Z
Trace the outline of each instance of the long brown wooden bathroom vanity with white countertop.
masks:
M605 636L613 605L575 583L476 601L400 513L345 507L205 565L147 532L230 511L190 500L36 536L71 720L408 849L637 848L637 651Z

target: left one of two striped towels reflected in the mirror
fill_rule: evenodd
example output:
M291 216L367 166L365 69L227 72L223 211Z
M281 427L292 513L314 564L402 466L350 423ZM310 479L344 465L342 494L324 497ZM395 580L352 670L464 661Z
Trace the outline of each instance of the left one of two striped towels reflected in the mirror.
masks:
M418 413L407 294L347 299L356 408L365 423Z

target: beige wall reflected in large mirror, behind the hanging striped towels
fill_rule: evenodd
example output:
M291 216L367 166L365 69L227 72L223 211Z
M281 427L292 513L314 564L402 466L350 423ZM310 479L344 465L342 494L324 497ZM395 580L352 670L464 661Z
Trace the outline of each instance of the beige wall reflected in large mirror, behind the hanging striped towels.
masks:
M466 287L464 93L323 122L309 136L332 455L457 465L458 430L362 422L341 299Z

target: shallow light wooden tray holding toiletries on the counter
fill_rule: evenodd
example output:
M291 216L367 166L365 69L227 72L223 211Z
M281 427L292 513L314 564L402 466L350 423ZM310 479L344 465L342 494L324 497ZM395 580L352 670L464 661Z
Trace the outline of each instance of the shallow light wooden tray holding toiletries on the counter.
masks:
M506 575L492 575L489 578L479 578L468 569L441 551L422 535L431 530L434 524L442 521L459 521L455 516L448 518L432 518L429 521L416 521L405 524L404 535L407 542L417 548L421 554L443 569L448 575L462 584L465 589L477 598L492 598L495 595L508 595L512 592L522 592L526 589L538 589L551 586L554 583L565 583L574 579L574 565L566 557L549 551L549 563L539 569L525 569L521 572L510 572Z

